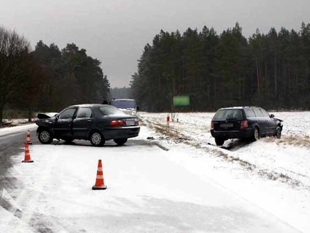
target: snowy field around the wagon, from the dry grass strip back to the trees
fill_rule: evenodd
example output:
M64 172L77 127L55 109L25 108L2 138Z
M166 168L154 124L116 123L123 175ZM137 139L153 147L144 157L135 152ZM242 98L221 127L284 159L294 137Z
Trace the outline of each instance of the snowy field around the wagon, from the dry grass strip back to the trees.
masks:
M210 133L214 113L176 114L178 123L170 122L169 130L166 127L167 113L140 113L140 117L157 132L171 136L174 139L172 142L185 142L196 148L213 151L217 155L237 159L247 168L259 173L268 176L273 173L273 179L288 180L292 185L310 189L310 112L274 114L284 120L280 140L273 137L262 138L254 143L227 140L223 147L215 145Z

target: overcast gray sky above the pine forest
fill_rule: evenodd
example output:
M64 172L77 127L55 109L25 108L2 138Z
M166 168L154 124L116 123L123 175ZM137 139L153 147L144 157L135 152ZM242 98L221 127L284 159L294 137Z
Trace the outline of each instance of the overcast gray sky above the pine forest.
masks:
M248 37L259 28L299 30L310 0L0 0L0 25L60 49L74 42L102 62L111 87L128 86L146 43L164 31L203 25L220 33L239 22Z

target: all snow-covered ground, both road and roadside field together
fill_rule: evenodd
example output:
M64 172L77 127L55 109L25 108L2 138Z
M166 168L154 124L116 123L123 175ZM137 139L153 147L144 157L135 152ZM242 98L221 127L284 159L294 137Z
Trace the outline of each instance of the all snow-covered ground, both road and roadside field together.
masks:
M209 133L213 114L178 114L167 128L167 114L140 113L140 135L123 147L31 146L34 163L16 155L16 189L0 193L10 205L0 232L309 233L310 122L300 121L310 113L275 113L281 140L223 147ZM91 190L98 159L104 191Z

